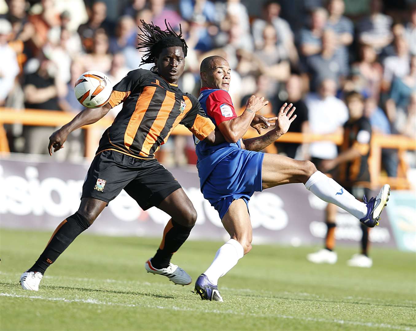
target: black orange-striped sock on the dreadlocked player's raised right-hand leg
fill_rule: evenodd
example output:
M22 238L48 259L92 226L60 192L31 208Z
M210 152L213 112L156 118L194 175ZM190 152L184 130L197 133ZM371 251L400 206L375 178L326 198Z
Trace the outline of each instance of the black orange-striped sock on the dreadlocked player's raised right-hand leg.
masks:
M162 242L154 257L152 257L152 266L156 269L166 268L171 262L173 253L175 253L182 244L188 239L193 226L183 226L170 219L163 231Z

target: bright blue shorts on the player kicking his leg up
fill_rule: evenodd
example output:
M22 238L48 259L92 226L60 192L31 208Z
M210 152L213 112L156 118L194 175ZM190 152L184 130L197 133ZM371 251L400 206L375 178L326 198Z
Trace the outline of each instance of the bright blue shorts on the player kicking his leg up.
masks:
M248 206L254 192L262 191L263 157L260 152L233 150L215 165L203 184L202 193L221 219L234 200L244 199Z

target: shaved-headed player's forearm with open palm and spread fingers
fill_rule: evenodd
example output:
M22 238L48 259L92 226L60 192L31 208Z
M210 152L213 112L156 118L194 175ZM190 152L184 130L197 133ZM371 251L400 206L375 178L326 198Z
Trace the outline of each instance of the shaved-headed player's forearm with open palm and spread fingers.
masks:
M260 137L243 139L241 147L246 150L259 152L265 149L272 142L275 142L282 135L284 135L287 132L287 130L289 130L290 124L296 118L296 115L293 115L293 112L295 111L296 107L292 108L292 103L287 105L287 107L286 105L287 103L284 103L280 108L279 114L277 115L276 127L273 130L265 133Z

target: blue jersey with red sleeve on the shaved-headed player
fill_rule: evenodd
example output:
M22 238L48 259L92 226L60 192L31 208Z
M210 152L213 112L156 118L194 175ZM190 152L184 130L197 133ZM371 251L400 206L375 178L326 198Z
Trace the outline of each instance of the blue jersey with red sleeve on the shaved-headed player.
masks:
M216 127L224 121L237 117L230 95L225 90L203 87L201 88L198 101ZM203 140L198 140L195 136L194 141L196 144L196 155L198 156L196 167L198 168L202 191L203 184L215 166L234 150L240 150L241 144L240 141L236 143L223 142L222 144L212 146ZM227 166L233 167L232 164Z

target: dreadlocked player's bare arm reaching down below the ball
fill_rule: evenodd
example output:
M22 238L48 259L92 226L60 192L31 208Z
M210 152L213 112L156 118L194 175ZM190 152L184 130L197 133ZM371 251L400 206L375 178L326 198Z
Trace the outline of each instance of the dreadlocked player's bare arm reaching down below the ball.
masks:
M97 122L98 120L102 119L110 109L111 105L106 103L104 106L99 108L85 108L82 110L80 113L78 113L77 116L74 117L71 122L65 124L59 130L52 133L52 135L49 137L49 154L52 156L52 147L54 152L60 150L63 147L69 133L77 130L79 127L84 125Z

